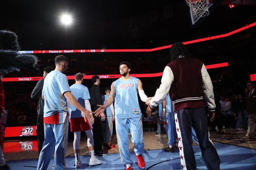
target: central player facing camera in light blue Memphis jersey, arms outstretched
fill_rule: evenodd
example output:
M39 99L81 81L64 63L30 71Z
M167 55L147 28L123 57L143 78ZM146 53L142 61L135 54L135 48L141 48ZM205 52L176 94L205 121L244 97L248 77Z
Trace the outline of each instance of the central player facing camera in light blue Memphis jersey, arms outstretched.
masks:
M128 131L130 129L132 135L132 143L134 143L134 152L138 159L140 168L145 167L145 161L142 157L144 152L143 131L141 123L141 111L137 97L137 89L140 99L144 102L149 101L145 95L140 79L131 77L129 72L131 65L128 62L121 62L119 71L121 78L114 81L111 85L111 92L106 103L98 105L99 108L94 112L95 116L100 115L110 106L115 99L116 113L116 136L119 146L121 162L126 164L126 170L132 170L132 160L129 153Z

